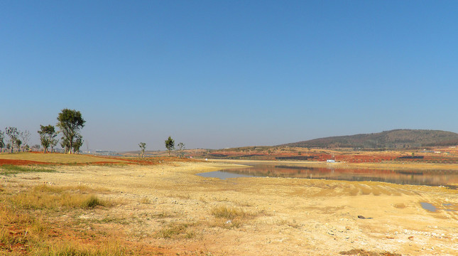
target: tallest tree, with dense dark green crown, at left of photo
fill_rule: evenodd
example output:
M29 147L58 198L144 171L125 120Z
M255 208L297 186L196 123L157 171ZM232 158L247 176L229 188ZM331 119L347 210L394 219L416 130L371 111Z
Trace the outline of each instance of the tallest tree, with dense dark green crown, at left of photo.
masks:
M78 144L78 151L80 150L80 146L82 146L80 129L84 127L85 122L80 111L63 109L62 112L59 113L58 127L60 132L62 132L61 145L65 149L65 153L71 154L72 149L73 152L75 152L75 143ZM80 142L78 142L78 139Z

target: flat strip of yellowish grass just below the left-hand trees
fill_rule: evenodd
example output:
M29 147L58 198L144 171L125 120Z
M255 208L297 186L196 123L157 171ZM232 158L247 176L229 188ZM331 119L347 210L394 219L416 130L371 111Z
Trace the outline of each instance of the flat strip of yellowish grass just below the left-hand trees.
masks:
M116 163L128 163L127 161L119 159L106 159L97 156L88 156L82 154L36 154L29 152L21 152L17 154L0 154L0 159L8 160L26 160L26 161L41 161L53 164L85 164L93 162L116 162Z

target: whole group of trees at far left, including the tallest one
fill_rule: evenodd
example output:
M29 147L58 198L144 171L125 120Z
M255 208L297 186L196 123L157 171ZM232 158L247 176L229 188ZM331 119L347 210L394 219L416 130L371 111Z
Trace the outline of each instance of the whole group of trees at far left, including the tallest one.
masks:
M55 129L52 124L45 126L40 124L38 134L40 135L44 153L48 152L48 148L52 152L54 147L57 146L59 143L58 134L62 134L60 146L62 146L65 153L79 152L84 142L80 130L84 127L85 122L80 111L64 109L58 114L56 126L59 130ZM30 137L31 133L27 130L21 132L16 127L6 127L5 132L0 131L0 152L4 148L11 150L11 153L13 151L28 151L30 149L28 146Z

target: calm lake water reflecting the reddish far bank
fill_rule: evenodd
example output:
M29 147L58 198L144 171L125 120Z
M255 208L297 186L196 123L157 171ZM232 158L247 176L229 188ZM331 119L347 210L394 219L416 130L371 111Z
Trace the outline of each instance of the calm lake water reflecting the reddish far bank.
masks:
M449 186L458 183L458 171L447 170L383 170L383 169L341 169L329 164L328 167L298 166L293 164L247 164L249 168L224 169L197 174L214 178L238 177L283 177L317 178L340 181L382 181L397 184Z

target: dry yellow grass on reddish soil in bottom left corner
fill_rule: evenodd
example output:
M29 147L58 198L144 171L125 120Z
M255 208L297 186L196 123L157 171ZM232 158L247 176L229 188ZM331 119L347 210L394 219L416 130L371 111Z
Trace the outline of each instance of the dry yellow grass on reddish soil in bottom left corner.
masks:
M114 238L91 242L97 238L96 233L87 235L89 240L83 238L84 242L80 241L79 231L65 228L72 225L72 220L70 223L49 222L50 216L60 210L90 209L110 204L82 192L91 191L90 188L42 185L20 192L0 188L0 255L136 255L124 249Z

